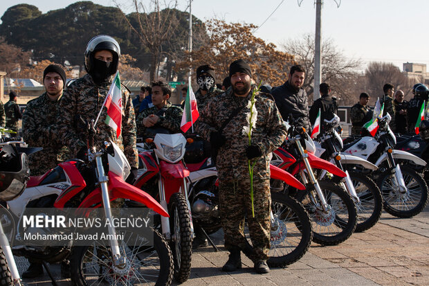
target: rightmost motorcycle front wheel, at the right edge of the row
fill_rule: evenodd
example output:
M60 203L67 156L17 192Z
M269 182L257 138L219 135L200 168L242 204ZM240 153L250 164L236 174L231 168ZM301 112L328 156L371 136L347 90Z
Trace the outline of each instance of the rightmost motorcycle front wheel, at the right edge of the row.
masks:
M405 195L392 190L391 170L383 172L377 180L383 195L383 208L395 217L414 217L423 211L428 204L428 185L412 168L401 166L402 177L407 186Z

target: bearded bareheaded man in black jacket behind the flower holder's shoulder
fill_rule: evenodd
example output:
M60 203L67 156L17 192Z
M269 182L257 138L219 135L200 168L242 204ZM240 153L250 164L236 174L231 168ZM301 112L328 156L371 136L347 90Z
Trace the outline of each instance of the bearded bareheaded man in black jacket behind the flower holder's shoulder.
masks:
M282 114L283 120L287 120L289 115L298 119L298 125L311 132L309 120L309 100L307 93L302 89L304 84L305 70L302 66L291 67L288 80L280 87L271 91L275 104Z

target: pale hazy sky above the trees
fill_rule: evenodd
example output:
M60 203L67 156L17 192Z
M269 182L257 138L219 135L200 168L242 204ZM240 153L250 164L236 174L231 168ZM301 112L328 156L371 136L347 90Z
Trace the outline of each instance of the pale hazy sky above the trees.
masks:
M228 22L261 25L255 35L281 46L316 30L315 0L194 0L192 14L201 20L214 17ZM0 6L0 15L11 6L28 3L42 12L65 8L73 0L8 0ZM93 0L102 6L116 6L133 12L132 0ZM162 1L161 1L162 2ZM337 7L337 3L340 6ZM143 1L148 5L149 0ZM300 6L298 5L300 3ZM324 0L322 40L331 39L348 58L392 62L403 69L404 62L429 66L429 37L426 14L428 0ZM178 0L179 10L189 1ZM277 8L278 6L278 8ZM275 10L277 8L277 10ZM274 12L275 11L275 12ZM272 15L271 15L272 14ZM270 16L271 15L271 16ZM429 67L428 67L429 71Z

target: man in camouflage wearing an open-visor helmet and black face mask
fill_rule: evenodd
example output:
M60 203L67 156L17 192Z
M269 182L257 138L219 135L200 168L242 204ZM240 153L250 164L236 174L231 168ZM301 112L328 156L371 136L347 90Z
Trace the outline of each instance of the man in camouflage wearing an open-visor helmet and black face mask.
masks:
M75 80L64 91L58 115L59 136L62 143L71 149L72 154L83 157L86 153L86 132L79 129L78 118L90 122L95 120L102 109L113 75L118 70L120 47L110 36L99 35L89 41L85 51L83 78ZM129 89L122 85L122 132L116 138L116 130L104 123L107 109L103 108L98 120L94 144L99 148L104 141L113 141L124 150L131 168L138 167L136 148L136 121Z

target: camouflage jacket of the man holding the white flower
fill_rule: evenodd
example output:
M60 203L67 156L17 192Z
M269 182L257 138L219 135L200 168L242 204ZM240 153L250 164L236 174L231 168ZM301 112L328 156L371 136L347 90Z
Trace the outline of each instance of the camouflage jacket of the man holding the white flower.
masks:
M255 86L252 87L253 89ZM234 109L247 105L250 95L241 98L235 96L232 89L228 89L219 96L212 98L208 105L200 111L200 116L195 124L196 132L210 141L211 132L220 129ZM256 126L253 127L251 142L259 145L263 155L256 159L254 178L269 179L270 161L268 154L284 142L287 131L273 98L267 93L259 92L255 99L257 100L255 102L257 121ZM216 163L220 179L250 178L246 157L248 136L243 132L244 126L248 126L246 116L249 112L249 107L244 107L223 129L222 134L226 137L226 143L219 149Z

